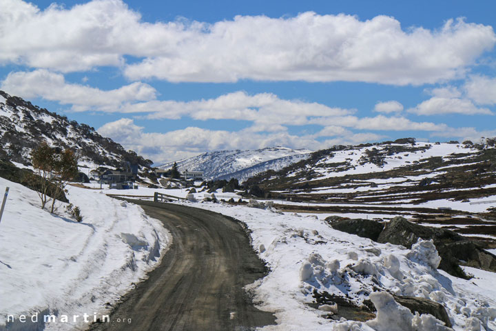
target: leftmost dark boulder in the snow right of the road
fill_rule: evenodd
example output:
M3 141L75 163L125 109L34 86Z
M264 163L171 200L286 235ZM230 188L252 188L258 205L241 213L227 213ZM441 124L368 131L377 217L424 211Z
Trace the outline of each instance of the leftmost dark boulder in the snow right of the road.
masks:
M331 216L325 219L335 230L356 234L359 237L378 241L378 237L384 228L384 224L371 219L344 219Z

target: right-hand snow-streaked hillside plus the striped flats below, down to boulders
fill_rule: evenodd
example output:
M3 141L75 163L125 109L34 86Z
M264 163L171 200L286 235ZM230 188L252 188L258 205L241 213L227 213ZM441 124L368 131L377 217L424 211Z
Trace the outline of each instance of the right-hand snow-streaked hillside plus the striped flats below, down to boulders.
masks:
M402 216L496 244L494 139L335 146L246 184L259 185L280 210Z

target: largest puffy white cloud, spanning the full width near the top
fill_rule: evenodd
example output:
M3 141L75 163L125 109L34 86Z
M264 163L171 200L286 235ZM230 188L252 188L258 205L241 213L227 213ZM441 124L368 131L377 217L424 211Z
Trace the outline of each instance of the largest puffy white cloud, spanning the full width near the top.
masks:
M434 83L461 77L496 43L493 28L461 19L438 30L314 12L149 23L120 0L45 10L3 0L0 31L0 63L63 72L118 66L130 79L167 81Z

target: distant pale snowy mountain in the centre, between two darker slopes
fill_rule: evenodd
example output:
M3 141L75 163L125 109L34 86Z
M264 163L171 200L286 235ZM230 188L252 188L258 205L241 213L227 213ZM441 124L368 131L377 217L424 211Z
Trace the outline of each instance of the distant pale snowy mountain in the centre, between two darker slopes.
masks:
M266 170L280 170L287 165L307 159L310 150L292 150L285 147L259 150L220 150L177 161L178 170L203 171L205 179L231 179L240 181ZM169 169L174 162L158 168Z

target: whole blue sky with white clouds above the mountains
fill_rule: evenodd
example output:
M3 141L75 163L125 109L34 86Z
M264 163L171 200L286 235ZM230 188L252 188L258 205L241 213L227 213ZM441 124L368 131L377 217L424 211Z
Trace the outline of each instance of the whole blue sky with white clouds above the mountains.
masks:
M156 163L496 136L494 1L0 0L0 88Z

